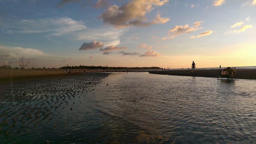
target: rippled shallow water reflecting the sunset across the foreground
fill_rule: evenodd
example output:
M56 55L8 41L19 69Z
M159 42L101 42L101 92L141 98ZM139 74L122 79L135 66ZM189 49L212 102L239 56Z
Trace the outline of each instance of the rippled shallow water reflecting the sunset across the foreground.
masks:
M39 81L38 94L30 93L31 100L24 104L20 100L23 106L16 105L16 109L8 109L6 105L11 105L10 102L2 98L0 140L23 143L256 142L255 80L229 81L147 72L100 78L103 81L92 78L90 81L95 84L90 83L88 88L84 87L89 80L81 77L72 81L72 87L60 86L65 79L54 80L54 83L44 81L44 84ZM81 83L87 84L80 86ZM42 107L42 112L45 105L53 108L48 106L43 116L32 110L32 103ZM23 112L28 105L32 119L40 115L33 122L26 117L28 112ZM4 119L8 124L3 123Z

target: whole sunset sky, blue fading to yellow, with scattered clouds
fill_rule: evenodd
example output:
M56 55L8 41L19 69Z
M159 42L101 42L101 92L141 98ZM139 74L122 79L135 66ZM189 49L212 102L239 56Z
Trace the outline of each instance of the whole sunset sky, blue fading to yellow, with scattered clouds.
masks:
M255 13L256 0L3 0L0 65L256 66Z

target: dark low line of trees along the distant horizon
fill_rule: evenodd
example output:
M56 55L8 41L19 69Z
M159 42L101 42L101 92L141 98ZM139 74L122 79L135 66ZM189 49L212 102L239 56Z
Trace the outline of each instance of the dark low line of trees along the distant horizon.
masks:
M156 69L159 67L102 67L102 66L64 66L59 69Z

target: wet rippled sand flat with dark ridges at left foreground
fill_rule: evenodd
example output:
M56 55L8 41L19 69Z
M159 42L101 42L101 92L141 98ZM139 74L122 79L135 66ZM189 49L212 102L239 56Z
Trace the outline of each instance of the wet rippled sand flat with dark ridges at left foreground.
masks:
M65 125L68 118L61 124L59 119L77 109L74 104L79 103L79 97L85 97L107 76L100 73L81 74L1 84L0 139L6 140L1 141L15 142L14 136L40 131L45 124L50 125L50 129Z

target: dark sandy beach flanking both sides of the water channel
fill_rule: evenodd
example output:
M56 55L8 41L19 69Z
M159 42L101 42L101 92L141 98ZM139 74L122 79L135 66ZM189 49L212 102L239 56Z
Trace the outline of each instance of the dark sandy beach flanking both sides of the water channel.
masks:
M70 76L77 75L79 70L72 71L71 73L64 72L65 70L38 70L38 69L13 69L13 68L0 68L0 82L8 82L11 79L16 80L26 80L33 78L43 78L49 76ZM103 70L98 70L102 72ZM113 72L118 70L113 70ZM124 71L124 70L122 70ZM146 70L148 71L148 70ZM90 73L90 70L86 70L86 73ZM93 70L96 73L96 70ZM110 70L108 70L108 73ZM150 74L160 74L160 75L173 75L173 76L199 76L199 77L216 77L218 76L219 69L196 69L196 72L191 72L191 69L169 69L163 71L148 71ZM256 79L256 69L236 69L237 79Z

